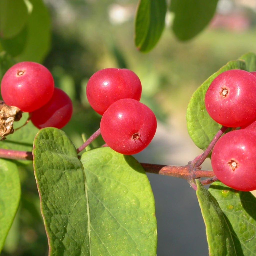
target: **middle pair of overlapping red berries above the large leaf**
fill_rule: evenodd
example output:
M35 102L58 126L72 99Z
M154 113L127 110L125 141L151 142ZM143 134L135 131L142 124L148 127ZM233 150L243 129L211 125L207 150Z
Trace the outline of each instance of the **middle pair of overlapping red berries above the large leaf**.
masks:
M86 87L90 105L102 115L103 140L121 154L142 151L156 132L155 114L139 102L141 91L141 81L133 71L117 68L94 73Z

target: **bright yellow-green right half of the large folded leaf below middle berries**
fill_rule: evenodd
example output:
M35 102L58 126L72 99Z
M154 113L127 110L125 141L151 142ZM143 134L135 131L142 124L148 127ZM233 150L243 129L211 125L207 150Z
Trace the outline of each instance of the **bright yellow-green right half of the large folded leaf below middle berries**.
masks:
M154 197L141 165L110 148L87 151L81 162L92 255L156 255Z

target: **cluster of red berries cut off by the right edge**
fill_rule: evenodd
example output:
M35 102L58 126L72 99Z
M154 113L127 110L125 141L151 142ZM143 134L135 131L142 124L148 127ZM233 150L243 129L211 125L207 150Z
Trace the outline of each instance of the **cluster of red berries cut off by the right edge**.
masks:
M213 148L215 175L231 188L255 190L256 72L233 69L221 73L210 84L205 105L217 123L233 127Z

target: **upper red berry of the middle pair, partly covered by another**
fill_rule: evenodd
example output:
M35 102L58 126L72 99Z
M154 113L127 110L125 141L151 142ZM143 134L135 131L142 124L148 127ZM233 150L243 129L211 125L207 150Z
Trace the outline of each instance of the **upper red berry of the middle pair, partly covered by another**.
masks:
M115 101L141 98L141 81L129 69L106 68L94 73L86 87L91 107L100 115Z

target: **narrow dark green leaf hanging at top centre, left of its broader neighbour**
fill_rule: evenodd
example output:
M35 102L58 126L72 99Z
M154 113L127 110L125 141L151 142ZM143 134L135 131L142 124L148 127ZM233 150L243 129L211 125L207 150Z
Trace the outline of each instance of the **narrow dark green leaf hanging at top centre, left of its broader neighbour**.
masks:
M158 42L166 9L166 0L140 0L135 18L135 45L140 51L150 51Z

